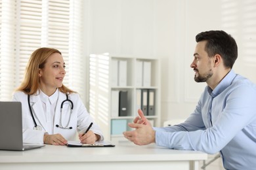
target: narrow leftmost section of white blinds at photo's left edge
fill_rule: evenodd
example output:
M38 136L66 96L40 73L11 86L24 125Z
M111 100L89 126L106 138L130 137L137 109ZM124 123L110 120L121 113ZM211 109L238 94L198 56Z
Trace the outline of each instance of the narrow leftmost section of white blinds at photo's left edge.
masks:
M0 97L9 99L15 83L15 10L13 1L0 1Z

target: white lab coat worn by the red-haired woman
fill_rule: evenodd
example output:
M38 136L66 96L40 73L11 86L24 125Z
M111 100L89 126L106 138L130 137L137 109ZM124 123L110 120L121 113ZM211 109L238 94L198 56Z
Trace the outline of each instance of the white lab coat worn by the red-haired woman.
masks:
M47 122L45 120L45 112L43 112L42 101L39 95L30 95L30 105L32 108L33 116L35 118L35 122L38 126L42 127L42 130L35 130L33 127L35 126L33 122L32 115L30 113L30 109L28 107L28 95L24 92L14 92L12 96L12 101L20 101L22 103L22 131L23 131L23 142L24 143L39 143L43 144L43 135L44 133L56 134L60 133L66 140L74 141L77 139L77 131L78 133L84 132L89 124L93 122L93 126L91 130L100 135L100 141L102 141L103 135L100 127L95 124L95 121L87 112L85 105L83 105L79 94L71 93L68 95L68 99L70 99L74 108L70 118L70 124L68 127L72 127L72 129L62 129L60 127L56 127L56 124L60 124L60 105L62 101L66 99L66 94L59 92L58 101L56 104L56 112L54 114L53 120L53 131L47 131ZM70 116L70 104L69 102L65 102L62 107L62 125L66 125Z

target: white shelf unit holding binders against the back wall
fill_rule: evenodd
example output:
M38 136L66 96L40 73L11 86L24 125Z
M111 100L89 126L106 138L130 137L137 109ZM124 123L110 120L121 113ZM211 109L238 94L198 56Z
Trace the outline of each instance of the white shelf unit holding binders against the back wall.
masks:
M125 61L125 84L116 83L116 62ZM144 85L140 82L141 62L150 63L150 82ZM122 71L121 71L122 72ZM145 75L144 75L145 76ZM119 76L119 78L123 76ZM119 79L118 78L118 79ZM121 79L120 78L120 79ZM120 81L120 80L119 80ZM137 104L137 90L154 91L154 115L146 116L153 126L160 126L160 61L156 58L134 58L109 56L107 54L91 54L89 59L89 112L103 131L104 138L109 141L126 140L122 131L132 130L127 126L128 122L138 115L140 108ZM127 116L119 116L113 113L112 91L127 92ZM112 105L113 104L113 105ZM116 103L118 106L119 104ZM145 114L145 113L144 113Z

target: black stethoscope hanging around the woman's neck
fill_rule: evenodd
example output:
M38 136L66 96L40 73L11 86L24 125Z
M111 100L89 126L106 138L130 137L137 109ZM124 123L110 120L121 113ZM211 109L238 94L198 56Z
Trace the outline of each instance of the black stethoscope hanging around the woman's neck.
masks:
M70 105L71 105L70 116L68 118L68 123L66 124L66 126L62 126L62 107L63 107L63 104L66 101L68 101L70 103ZM56 103L56 105L57 105L57 103ZM33 116L32 108L31 108L31 105L30 105L30 95L29 94L28 94L28 107L30 108L30 113L31 113L31 116L33 118L33 123L35 124L33 129L41 131L42 127L37 125L37 122L35 122L35 117ZM62 129L72 129L73 128L72 126L68 127L68 125L70 124L70 118L71 118L73 107L74 107L73 102L70 99L68 99L68 94L66 94L66 100L62 101L62 103L60 105L60 125L56 124L56 127L60 127Z

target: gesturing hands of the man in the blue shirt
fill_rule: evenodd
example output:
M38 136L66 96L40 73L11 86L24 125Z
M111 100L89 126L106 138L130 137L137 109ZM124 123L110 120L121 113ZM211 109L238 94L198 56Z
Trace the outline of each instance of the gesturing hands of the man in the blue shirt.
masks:
M145 118L142 110L139 110L138 113L139 116L133 120L133 123L128 124L129 127L135 128L135 130L123 132L124 137L137 145L155 143L156 131Z

